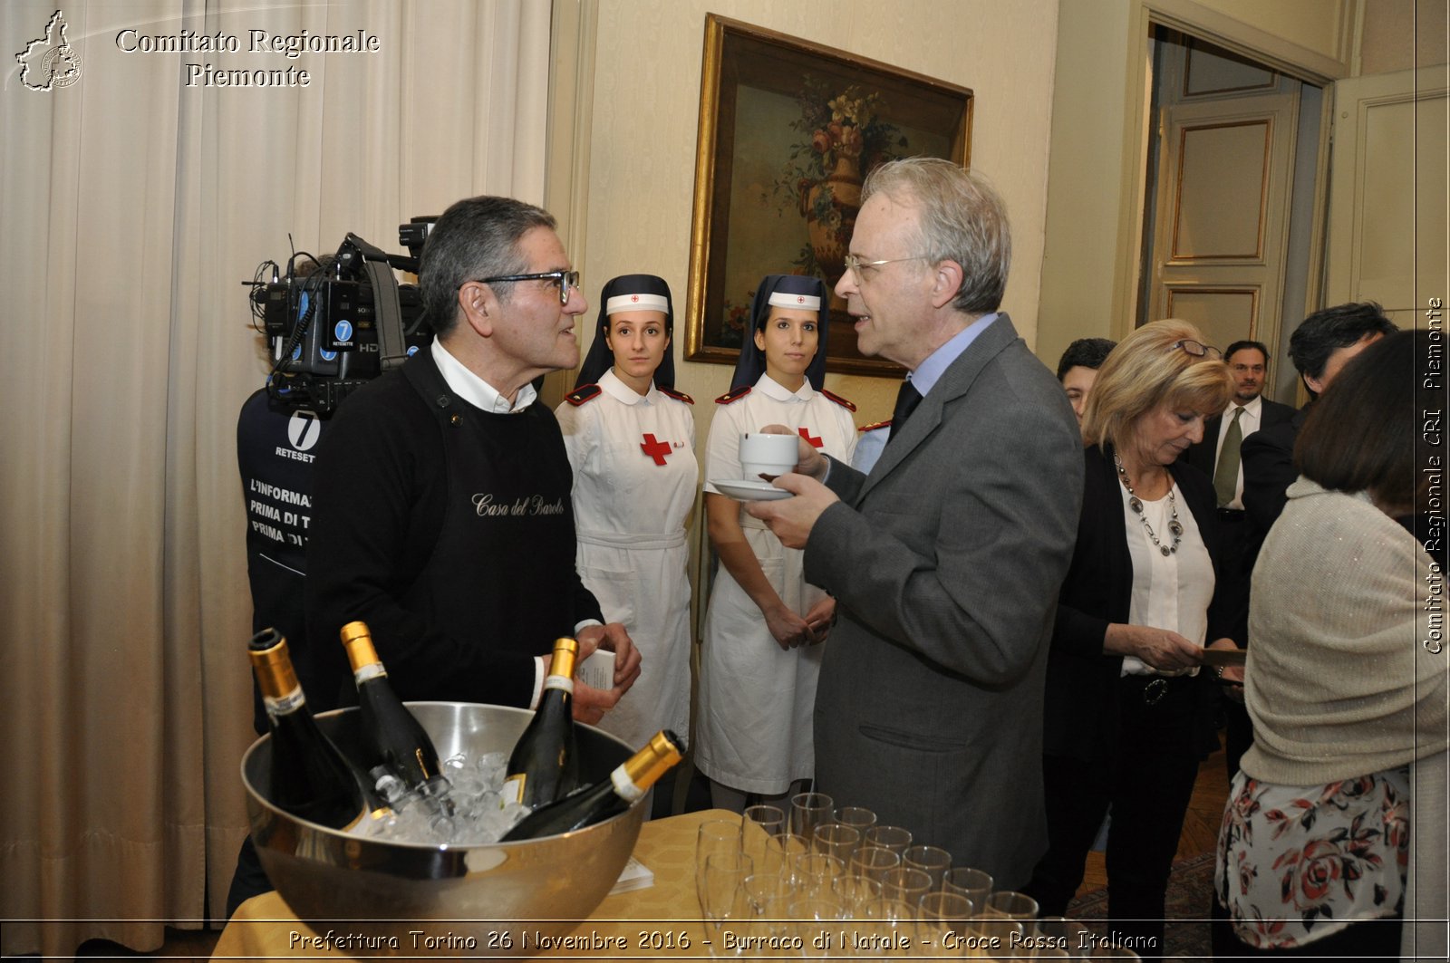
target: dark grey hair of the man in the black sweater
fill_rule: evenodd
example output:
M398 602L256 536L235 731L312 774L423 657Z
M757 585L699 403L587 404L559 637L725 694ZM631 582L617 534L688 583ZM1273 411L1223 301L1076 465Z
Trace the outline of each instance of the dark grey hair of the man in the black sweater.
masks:
M534 228L555 228L554 215L513 197L467 197L448 207L428 232L418 287L428 323L445 335L458 323L458 289L480 277L526 270L519 239ZM513 294L510 281L493 284L499 300Z

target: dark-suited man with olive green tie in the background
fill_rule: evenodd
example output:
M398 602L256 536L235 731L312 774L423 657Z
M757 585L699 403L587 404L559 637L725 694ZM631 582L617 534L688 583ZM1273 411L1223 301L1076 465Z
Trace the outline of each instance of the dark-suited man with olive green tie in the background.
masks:
M1244 513L1243 444L1259 431L1288 423L1295 410L1263 396L1269 377L1269 348L1257 341L1235 341L1224 351L1224 361L1234 376L1234 397L1222 415L1204 422L1204 439L1189 447L1183 455L1214 480L1219 521L1219 577L1222 611L1227 613L1230 637L1244 645L1248 637L1248 576L1253 571L1257 542L1248 531ZM1253 744L1248 712L1238 698L1224 702L1224 761L1228 776L1238 772L1238 759Z

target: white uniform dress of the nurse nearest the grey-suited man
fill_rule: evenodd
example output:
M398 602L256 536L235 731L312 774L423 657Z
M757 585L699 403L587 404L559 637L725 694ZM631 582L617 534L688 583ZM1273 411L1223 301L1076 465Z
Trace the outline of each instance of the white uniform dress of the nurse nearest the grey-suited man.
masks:
M805 428L812 444L851 461L856 423L837 402L805 383L792 393L763 374L750 394L721 405L710 422L705 490L710 482L744 477L740 437L779 423ZM745 541L766 579L796 615L805 616L825 592L808 584L800 550L786 548L766 525L740 515ZM719 566L710 590L700 651L700 705L695 763L708 777L751 793L779 795L815 772L812 712L822 645L783 650L766 616Z

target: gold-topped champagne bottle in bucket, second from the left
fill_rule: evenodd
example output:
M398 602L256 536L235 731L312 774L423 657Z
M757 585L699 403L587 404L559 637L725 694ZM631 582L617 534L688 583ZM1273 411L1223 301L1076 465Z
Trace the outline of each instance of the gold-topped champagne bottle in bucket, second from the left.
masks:
M358 686L364 763L374 780L392 774L426 798L447 792L442 763L428 732L387 682L365 622L342 627L342 645ZM378 770L381 767L381 772Z

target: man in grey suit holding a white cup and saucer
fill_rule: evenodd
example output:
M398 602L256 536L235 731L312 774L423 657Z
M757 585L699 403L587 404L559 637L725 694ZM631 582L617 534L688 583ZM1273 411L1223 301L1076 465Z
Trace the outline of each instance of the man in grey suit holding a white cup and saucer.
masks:
M838 600L816 783L1024 885L1047 848L1043 679L1082 503L1061 387L998 313L1006 212L941 160L867 178L837 293L861 351L911 374L871 468L800 447L796 497L751 503Z

